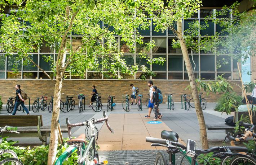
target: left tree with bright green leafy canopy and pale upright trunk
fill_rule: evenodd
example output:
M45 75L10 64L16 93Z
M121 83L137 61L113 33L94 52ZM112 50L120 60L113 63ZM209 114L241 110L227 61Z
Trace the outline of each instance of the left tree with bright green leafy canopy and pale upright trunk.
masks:
M24 65L32 63L55 83L48 155L48 164L51 165L56 159L60 98L65 71L82 77L85 70L98 69L99 65L114 76L118 76L118 69L124 74L132 74L138 69L148 71L145 65L126 65L114 34L122 36L122 41L133 50L134 42L143 43L140 34L134 34L134 29L148 27L150 22L142 11L136 11L138 6L129 0L16 0L8 3L1 0L0 4L2 11L11 9L9 16L1 14L0 43L6 55L15 57L16 60L23 59ZM102 20L103 27L99 23ZM110 27L114 27L114 31ZM77 46L70 44L71 33L82 36ZM106 41L104 45L103 40ZM43 44L56 50L56 57L44 56L45 62L51 63L55 80L29 54L36 52ZM154 44L147 43L147 46L150 48ZM141 56L144 54L141 53ZM164 61L163 58L151 60L144 57L149 63ZM15 67L17 69L17 65Z

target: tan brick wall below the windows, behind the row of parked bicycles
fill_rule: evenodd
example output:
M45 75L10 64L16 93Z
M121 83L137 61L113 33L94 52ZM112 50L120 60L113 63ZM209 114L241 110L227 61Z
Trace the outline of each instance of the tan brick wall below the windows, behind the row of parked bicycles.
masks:
M140 89L140 94L143 95L142 103L145 103L147 94L149 93L147 81L65 80L63 82L62 93L65 92L65 94L62 95L62 101L65 100L66 95L74 96L76 104L78 103L76 94L89 95L92 92L92 85L95 85L98 93L101 93L102 103L106 103L108 95L116 96L114 100L115 103L122 103L124 100L122 95L126 93L131 95L131 91L129 90L131 89L130 84L133 84ZM240 83L239 81L234 82ZM4 104L9 97L15 96L14 86L16 84L21 85L21 89L25 90L28 97L31 98L32 103L36 97L40 97L41 95L53 96L54 94L54 83L50 80L0 80L0 96L2 97ZM191 94L188 89L184 91L188 84L189 81L154 81L154 85L162 91L164 102L167 102L167 97L164 96L165 94L172 93L175 102L180 102L181 94ZM238 94L241 94L241 90L237 88L237 86L234 89ZM206 93L204 93L203 97L207 99L207 102L216 102L220 97L220 94L209 93L209 95L206 96ZM86 98L87 104L90 99L91 96Z

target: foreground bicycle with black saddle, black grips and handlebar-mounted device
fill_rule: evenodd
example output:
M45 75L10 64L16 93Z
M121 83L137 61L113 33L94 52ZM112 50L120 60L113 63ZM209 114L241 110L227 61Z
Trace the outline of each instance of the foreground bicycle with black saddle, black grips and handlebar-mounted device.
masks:
M211 147L208 150L202 149L195 149L195 141L187 140L187 146L182 145L178 142L178 134L173 131L162 131L160 138L154 137L146 137L146 142L152 142L151 146L162 146L168 148L167 153L169 154L169 164L171 165L199 165L197 158L203 159L205 162L208 163L208 160L217 157L221 159L220 165L228 165L229 162L226 162L226 157L229 156L236 156L237 157L244 157L243 154L237 152L247 152L248 149L246 147L237 147L237 146L215 146ZM207 154L209 152L213 152L214 154L209 157L208 159L204 159L200 154ZM233 153L235 152L235 153ZM234 159L231 161L229 165L238 165L235 161L239 159ZM247 162L248 160L253 160L252 157L246 156L245 159ZM228 163L228 164L227 164ZM154 165L167 165L167 159L164 156L163 152L158 152L156 155L156 160ZM206 164L206 163L204 163ZM242 164L242 165L250 165L250 164Z

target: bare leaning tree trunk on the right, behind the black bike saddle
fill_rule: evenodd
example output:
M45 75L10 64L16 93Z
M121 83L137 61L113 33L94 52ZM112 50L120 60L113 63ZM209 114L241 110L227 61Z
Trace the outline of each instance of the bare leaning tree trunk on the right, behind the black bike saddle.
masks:
M202 148L203 149L208 149L209 146L208 146L208 139L207 139L207 133L206 133L206 125L205 125L205 122L204 122L203 110L201 108L200 101L199 101L199 96L198 96L198 91L197 91L197 84L195 82L195 75L194 75L193 67L192 67L190 59L189 59L189 53L187 52L187 46L186 46L185 40L182 36L182 22L181 22L181 20L177 21L177 36L178 36L178 39L180 41L180 47L181 47L182 55L184 57L185 66L186 66L186 69L187 69L187 74L189 76L189 83L190 83L190 86L191 86L191 92L192 92L192 96L193 96L194 102L195 102L195 110L196 110L196 113L197 113L197 119L198 119L199 129L200 129L200 141L202 142Z

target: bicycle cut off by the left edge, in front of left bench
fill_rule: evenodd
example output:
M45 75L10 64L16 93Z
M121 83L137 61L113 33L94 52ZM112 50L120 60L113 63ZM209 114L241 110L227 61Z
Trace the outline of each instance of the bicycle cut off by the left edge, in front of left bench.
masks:
M5 127L0 127L0 144L3 142L3 138L1 137L4 132L17 132L17 127L10 127L10 126L5 126ZM4 160L0 161L0 165L10 165L10 164L15 164L15 165L23 165L23 163L18 159L17 154L13 150L0 150L0 156L1 155L6 155L10 154L12 157L6 158Z

